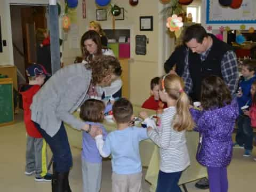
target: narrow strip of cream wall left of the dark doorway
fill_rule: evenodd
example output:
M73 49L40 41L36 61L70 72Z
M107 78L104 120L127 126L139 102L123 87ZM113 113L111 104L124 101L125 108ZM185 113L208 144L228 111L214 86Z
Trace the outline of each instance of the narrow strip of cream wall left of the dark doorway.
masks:
M0 3L0 17L1 17L1 32L2 32L2 41L6 40L7 46L3 47L3 52L0 53L0 65L13 65L13 63L10 63L9 61L9 44L8 42L8 27L7 27L7 11L5 9L5 3L7 0L2 0Z

